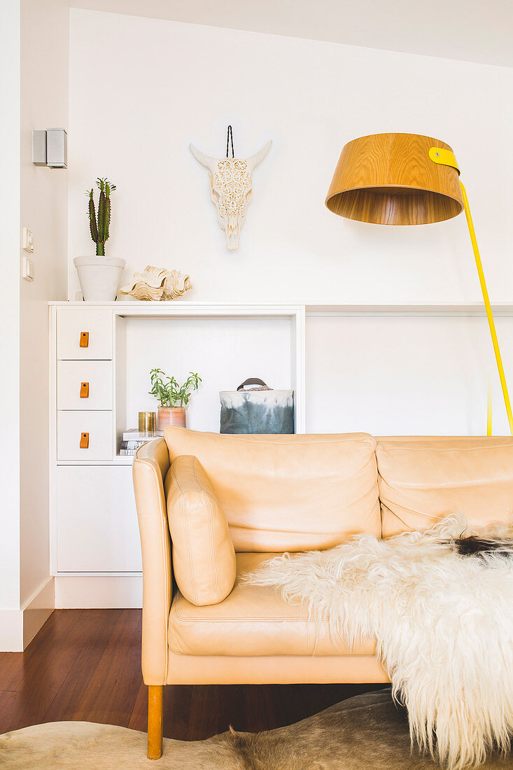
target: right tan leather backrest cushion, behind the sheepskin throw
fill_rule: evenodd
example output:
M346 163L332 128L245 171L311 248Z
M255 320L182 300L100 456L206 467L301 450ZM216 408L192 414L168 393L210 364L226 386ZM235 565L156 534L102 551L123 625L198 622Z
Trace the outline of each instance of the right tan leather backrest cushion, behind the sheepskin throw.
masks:
M474 527L513 513L513 438L378 438L376 454L383 537L453 513Z

